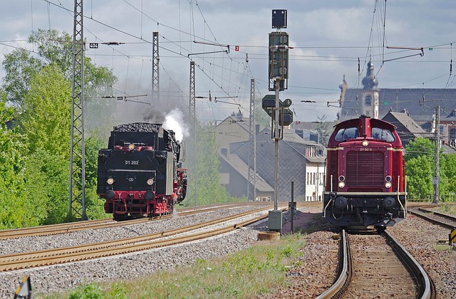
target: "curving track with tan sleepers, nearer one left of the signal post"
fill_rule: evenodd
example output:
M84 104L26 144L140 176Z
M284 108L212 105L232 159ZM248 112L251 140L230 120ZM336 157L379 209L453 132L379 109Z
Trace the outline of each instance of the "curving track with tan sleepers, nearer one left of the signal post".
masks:
M247 211L234 216L227 216L223 219L207 221L202 224L187 226L181 229L171 231L162 231L157 234L146 236L137 236L133 238L123 238L115 241L106 241L102 243L85 244L82 246L71 246L67 248L54 248L46 251L32 251L27 253L15 253L11 255L0 256L0 271L14 271L25 268L38 266L48 266L58 263L68 263L74 261L84 261L90 258L102 258L105 256L114 256L124 253L133 253L136 251L145 251L151 248L162 246L170 246L177 243L185 243L195 241L210 236L224 234L229 231L234 231L243 226L247 226L261 219L265 219L268 214L263 213L261 216L250 217L236 221L234 224L226 224L222 227L210 229L210 226L246 217L250 214L264 212L270 207ZM283 210L286 207L282 208ZM209 227L209 229L208 229ZM182 233L204 229L202 232L194 232L193 234L182 235Z

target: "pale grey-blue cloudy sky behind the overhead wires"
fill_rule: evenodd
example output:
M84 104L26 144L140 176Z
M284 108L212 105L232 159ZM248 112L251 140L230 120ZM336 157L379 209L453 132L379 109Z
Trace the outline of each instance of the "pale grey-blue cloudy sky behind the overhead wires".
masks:
M257 96L270 93L267 43L275 31L273 9L288 11L288 28L282 31L294 48L289 89L281 98L293 101L295 120L335 120L336 108L327 103L338 100L343 75L349 87L361 87L370 57L379 88L455 88L455 73L450 73L456 58L454 0L84 0L84 37L100 43L86 55L118 76L115 95L147 95L138 100L150 101L151 41L157 31L161 96L160 103L152 103L156 108L187 109L193 60L196 95L207 97L197 99L198 119L223 120L238 110L248 115L250 79ZM73 33L72 11L72 0L7 1L0 11L0 60L15 47L33 51L26 39L38 28ZM227 45L229 53L224 53ZM423 48L424 56L405 48ZM140 103L122 105L120 114L147 109Z

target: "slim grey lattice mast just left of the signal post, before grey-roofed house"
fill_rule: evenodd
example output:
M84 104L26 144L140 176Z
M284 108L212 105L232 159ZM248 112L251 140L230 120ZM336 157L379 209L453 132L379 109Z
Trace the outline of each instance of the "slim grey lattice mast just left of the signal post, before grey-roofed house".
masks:
M249 115L249 174L247 182L247 200L257 199L257 129L255 127L255 79L250 79L250 115Z

